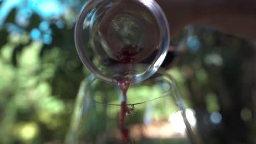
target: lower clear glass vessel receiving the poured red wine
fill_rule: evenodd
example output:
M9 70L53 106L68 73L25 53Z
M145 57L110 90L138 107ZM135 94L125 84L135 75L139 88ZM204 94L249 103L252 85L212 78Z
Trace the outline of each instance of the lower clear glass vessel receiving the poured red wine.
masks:
M200 143L191 123L195 117L185 110L174 80L164 71L130 85L123 128L121 95L118 85L93 75L84 80L66 143Z

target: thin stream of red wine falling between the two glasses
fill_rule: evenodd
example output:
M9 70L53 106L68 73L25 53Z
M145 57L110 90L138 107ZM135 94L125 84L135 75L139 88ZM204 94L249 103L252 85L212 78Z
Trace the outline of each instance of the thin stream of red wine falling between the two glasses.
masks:
M130 81L124 81L124 82L118 82L118 85L123 92L123 98L121 102L121 112L119 117L119 128L123 135L123 144L128 143L128 129L125 127L125 116L130 114L129 108L127 107L126 101L127 101L127 90L130 85Z

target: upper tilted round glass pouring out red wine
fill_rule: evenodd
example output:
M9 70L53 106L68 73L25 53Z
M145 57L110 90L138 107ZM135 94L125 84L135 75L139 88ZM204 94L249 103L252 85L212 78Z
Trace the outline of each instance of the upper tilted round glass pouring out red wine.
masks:
M110 83L146 80L164 61L170 43L168 22L154 0L89 0L74 35L83 64Z

